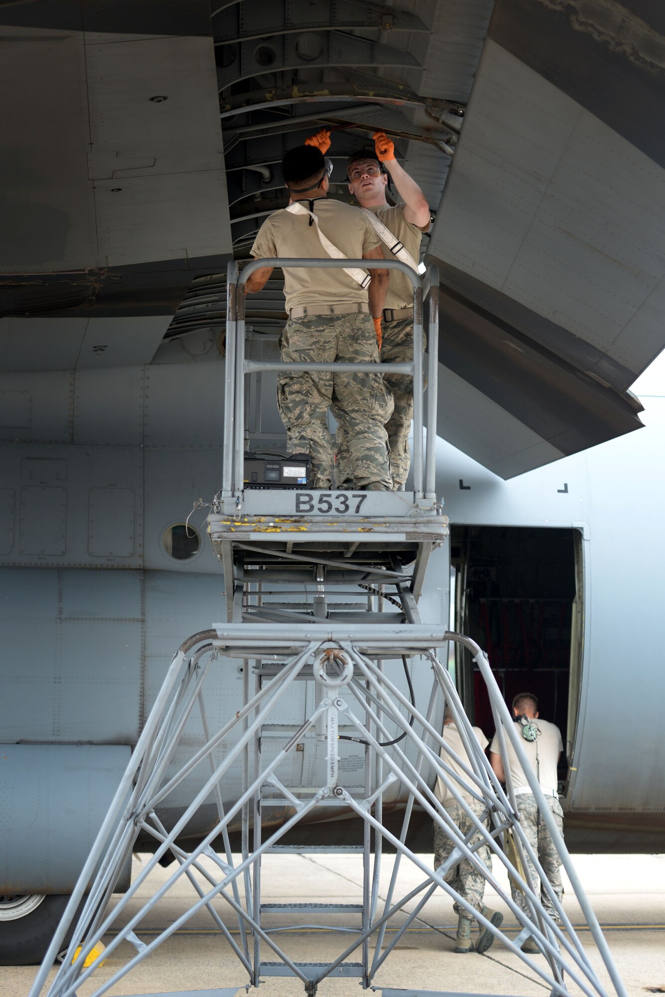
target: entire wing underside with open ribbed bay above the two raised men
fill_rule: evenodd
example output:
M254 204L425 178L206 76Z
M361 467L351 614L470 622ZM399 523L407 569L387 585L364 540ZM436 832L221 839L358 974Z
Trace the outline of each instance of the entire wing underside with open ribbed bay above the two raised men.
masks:
M0 5L2 369L223 335L285 150L332 129L347 197L380 128L436 214L440 435L510 478L639 428L627 389L665 345L660 5L402 7ZM279 284L251 308L275 333Z

